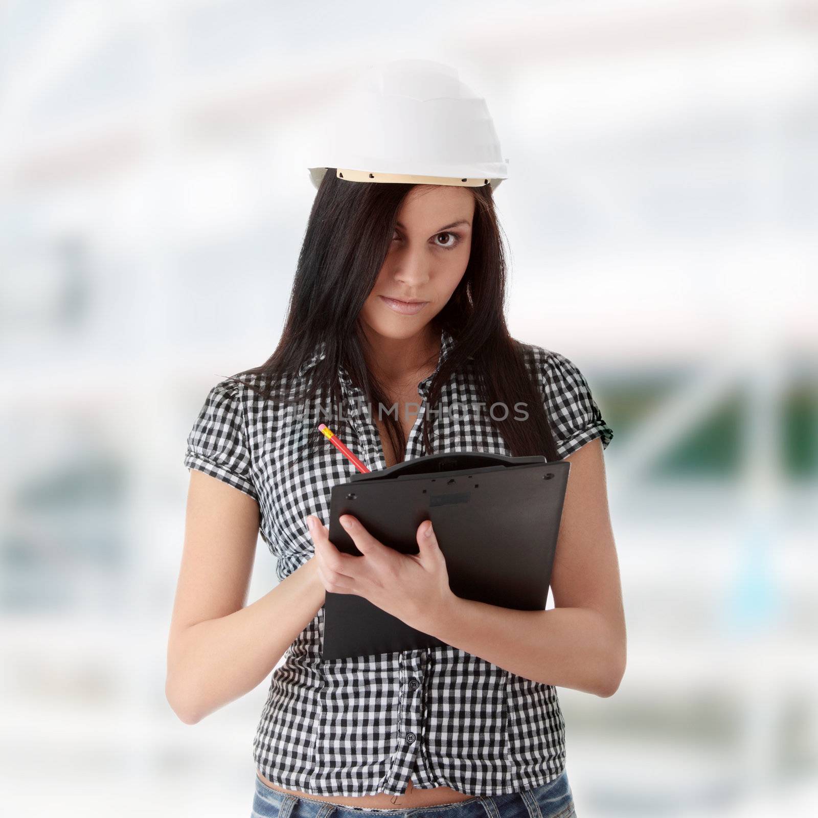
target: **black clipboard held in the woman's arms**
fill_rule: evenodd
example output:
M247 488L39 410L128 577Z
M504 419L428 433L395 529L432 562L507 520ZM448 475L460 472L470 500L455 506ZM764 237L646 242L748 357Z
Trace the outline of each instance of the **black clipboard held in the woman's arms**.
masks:
M339 523L357 517L374 537L417 554L431 519L456 596L545 610L568 485L569 461L447 452L355 474L332 488L330 542L361 555ZM321 660L445 647L357 594L326 593Z

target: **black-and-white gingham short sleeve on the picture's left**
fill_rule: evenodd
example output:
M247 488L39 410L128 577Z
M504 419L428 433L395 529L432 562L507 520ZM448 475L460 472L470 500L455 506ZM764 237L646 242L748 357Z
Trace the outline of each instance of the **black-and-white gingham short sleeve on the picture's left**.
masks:
M231 380L222 380L210 389L187 435L185 465L258 501L238 389Z

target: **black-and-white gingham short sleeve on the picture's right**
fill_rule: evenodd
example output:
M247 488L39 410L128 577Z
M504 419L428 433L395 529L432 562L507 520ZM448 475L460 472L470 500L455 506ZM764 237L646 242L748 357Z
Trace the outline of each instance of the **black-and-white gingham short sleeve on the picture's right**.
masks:
M613 429L605 423L582 372L560 353L547 352L542 367L543 389L557 452L565 458L595 438L608 447Z

